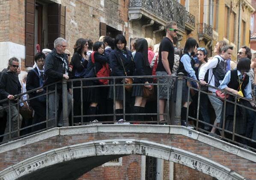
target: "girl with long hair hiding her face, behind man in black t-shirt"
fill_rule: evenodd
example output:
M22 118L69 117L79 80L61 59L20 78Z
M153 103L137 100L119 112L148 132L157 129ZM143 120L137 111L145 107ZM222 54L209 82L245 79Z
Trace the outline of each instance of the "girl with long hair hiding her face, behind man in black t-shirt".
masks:
M148 60L148 44L146 39L140 38L136 40L136 54L134 56L135 71L134 76L152 75ZM149 84L149 78L134 78L134 84L145 84L146 88L153 88ZM152 80L151 80L152 81ZM143 86L134 85L132 95L135 97L133 113L145 113L145 105L147 99L143 97ZM144 116L134 116L134 120L144 120Z

